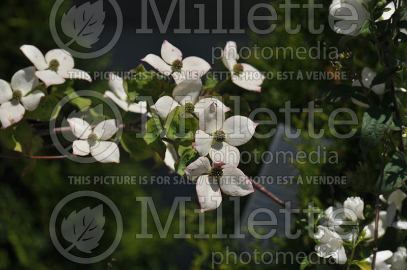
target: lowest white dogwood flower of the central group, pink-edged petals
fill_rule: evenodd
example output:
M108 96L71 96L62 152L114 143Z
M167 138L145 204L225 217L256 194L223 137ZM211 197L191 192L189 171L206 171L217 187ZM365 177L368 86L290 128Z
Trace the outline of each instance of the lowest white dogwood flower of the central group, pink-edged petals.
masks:
M197 180L201 213L218 208L222 201L220 191L229 196L246 196L254 192L251 181L240 169L215 162L211 166L207 157L199 157L184 171L190 180Z

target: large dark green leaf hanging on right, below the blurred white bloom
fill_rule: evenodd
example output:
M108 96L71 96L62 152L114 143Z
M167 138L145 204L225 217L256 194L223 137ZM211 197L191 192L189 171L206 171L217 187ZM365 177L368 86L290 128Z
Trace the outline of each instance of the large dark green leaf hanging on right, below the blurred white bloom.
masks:
M367 152L377 146L392 122L391 112L383 112L373 106L363 113L362 131L359 146L366 157Z

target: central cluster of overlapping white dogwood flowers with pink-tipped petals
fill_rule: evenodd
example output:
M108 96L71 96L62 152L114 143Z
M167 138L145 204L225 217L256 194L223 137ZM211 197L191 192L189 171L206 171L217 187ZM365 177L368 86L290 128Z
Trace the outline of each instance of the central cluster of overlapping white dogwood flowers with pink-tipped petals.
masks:
M265 77L254 67L237 63L239 57L235 42L227 42L222 55L222 61L231 73L232 82L249 91L260 92L260 85ZM194 132L194 143L191 146L200 157L189 162L183 171L189 179L197 180L196 192L201 211L209 211L219 206L222 200L221 190L230 196L252 193L250 179L237 168L240 152L236 146L251 139L257 124L245 116L225 119L225 113L230 111L230 108L220 99L211 96L211 93L202 96L205 94L205 87L202 86L201 78L211 66L199 57L183 58L182 52L168 41L164 41L161 46L161 57L148 54L141 60L160 73L171 75L177 84L173 88L172 96L161 96L150 107L159 118L170 122L168 117L171 112L180 108L180 117L192 117L198 121L198 130ZM119 96L116 92L115 94ZM165 142L165 145L167 151L164 162L169 168L176 170L178 147L168 142Z

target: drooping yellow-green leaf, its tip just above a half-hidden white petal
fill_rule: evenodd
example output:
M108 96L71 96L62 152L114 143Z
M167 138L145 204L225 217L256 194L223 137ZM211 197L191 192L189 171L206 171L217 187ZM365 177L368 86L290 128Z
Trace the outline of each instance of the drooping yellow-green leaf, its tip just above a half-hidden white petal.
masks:
M143 139L164 160L167 147L161 140L162 133L160 119L155 115L147 121Z

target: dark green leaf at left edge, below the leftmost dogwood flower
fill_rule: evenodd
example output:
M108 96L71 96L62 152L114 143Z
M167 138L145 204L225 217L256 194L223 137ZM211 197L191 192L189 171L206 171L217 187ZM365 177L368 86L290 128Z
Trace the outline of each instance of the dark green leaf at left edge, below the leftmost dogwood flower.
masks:
M6 148L26 155L31 153L32 135L33 128L26 121L0 130L0 139Z

